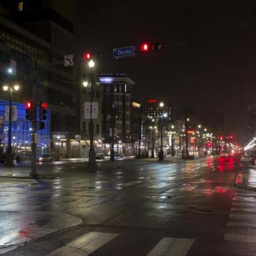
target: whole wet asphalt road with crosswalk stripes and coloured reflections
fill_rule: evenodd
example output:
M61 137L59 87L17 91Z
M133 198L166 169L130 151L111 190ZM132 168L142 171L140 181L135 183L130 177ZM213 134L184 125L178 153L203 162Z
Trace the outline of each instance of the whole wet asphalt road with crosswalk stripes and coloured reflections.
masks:
M0 253L255 255L256 193L234 187L253 168L235 158L84 166L0 168Z

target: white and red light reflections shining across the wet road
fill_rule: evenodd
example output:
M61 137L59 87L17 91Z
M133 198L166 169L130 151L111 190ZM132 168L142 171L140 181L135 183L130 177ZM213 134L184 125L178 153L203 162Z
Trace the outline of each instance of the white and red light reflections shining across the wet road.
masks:
M114 210L121 212L130 204L139 210L168 209L177 214L184 206L170 202L178 198L186 204L185 213L191 209L197 212L198 197L208 202L210 197L217 194L222 198L232 190L227 180L237 167L233 157L218 157L217 161L206 157L199 163L152 164L89 174L76 173L79 166L69 170L65 166L52 167L52 176L45 180L1 178L0 253L6 246L24 244L82 224L82 219L84 224L104 223L108 220L107 214L112 216ZM67 171L74 175L61 176ZM216 176L217 172L223 175ZM256 176L251 179L255 181ZM117 207L113 208L112 204L116 203ZM106 216L103 217L101 211L106 211Z

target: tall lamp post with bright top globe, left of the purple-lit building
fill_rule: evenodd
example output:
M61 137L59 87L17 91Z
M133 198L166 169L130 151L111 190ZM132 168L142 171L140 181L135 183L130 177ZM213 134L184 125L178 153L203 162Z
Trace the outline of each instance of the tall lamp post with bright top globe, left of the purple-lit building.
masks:
M88 63L88 66L90 69L92 69L95 66L94 61L91 59ZM88 167L89 168L95 168L97 167L96 163L96 153L93 146L93 134L94 134L94 123L93 123L93 97L94 97L94 86L97 84L95 83L95 73L89 72L88 74L88 80L84 80L82 82L84 88L89 88L90 92L90 118L89 118L89 161L88 161Z

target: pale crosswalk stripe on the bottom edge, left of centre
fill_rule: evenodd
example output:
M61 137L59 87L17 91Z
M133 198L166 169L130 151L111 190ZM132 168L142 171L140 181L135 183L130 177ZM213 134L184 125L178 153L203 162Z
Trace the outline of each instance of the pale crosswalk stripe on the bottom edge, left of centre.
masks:
M66 246L52 251L48 256L88 256L93 251L116 238L118 234L104 232L88 232L76 238Z

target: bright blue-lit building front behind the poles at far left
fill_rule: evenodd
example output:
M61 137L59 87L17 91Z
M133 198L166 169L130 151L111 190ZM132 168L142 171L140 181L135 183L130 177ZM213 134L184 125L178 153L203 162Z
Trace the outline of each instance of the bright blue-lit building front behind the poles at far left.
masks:
M21 152L22 148L31 145L31 121L25 119L25 105L13 103L17 106L17 121L12 121L12 146L14 151ZM3 118L3 125L0 125L0 140L3 146L8 144L8 121L5 121L5 106L8 101L0 100L0 117ZM44 129L38 129L39 154L46 153L50 147L50 110L46 112L47 119L44 121ZM37 120L39 121L39 108L37 109Z

